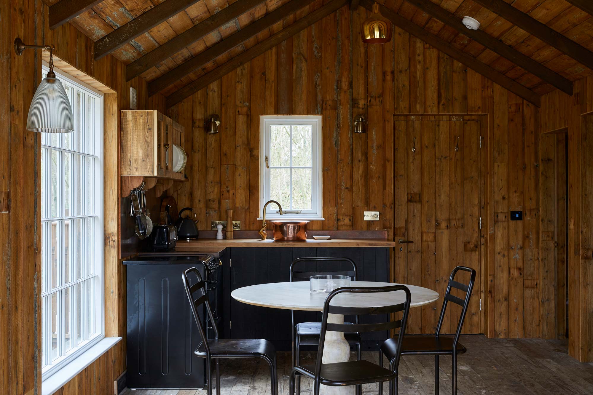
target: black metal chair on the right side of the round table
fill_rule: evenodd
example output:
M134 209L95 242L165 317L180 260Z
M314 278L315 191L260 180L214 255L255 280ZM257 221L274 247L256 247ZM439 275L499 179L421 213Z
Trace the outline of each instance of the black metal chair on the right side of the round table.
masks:
M468 283L468 285L455 281L455 275L460 270L470 273L470 282ZM434 355L435 394L438 395L439 355L451 355L451 378L453 381L453 394L457 394L457 355L463 354L467 351L467 349L459 342L459 336L461 335L461 327L463 327L463 321L466 318L467 306L470 303L471 291L474 288L474 281L476 281L476 270L471 269L471 267L465 266L455 267L455 269L453 269L453 271L451 272L451 276L449 276L449 283L447 285L447 291L445 292L445 298L443 300L443 305L441 308L441 317L439 317L439 323L436 326L435 335L408 336L403 341L403 343L400 342L397 336L385 340L385 342L381 345L381 349L379 351L379 359L381 366L383 365L383 355L385 355L387 359L391 361L390 364L393 363L394 358L399 358L400 353L401 355ZM466 298L461 299L454 295L451 295L451 288L457 288L463 292L466 292ZM439 335L439 332L441 332L441 326L443 323L443 318L445 317L445 311L447 310L448 302L453 302L461 306L461 316L459 317L459 321L457 323L457 330L455 331L455 336L453 338L443 337ZM401 343L401 349L398 345L399 343ZM383 393L382 387L382 384L379 384L379 395L382 395Z

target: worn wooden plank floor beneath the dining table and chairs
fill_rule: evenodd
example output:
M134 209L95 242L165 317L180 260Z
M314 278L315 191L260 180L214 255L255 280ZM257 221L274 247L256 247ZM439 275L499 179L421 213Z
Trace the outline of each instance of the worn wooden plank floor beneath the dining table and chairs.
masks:
M568 355L568 341L540 339L486 339L462 336L468 352L458 357L458 394L512 395L593 393L593 363L578 362ZM378 363L378 353L362 357ZM301 363L313 364L315 353L303 353ZM352 359L356 358L352 353ZM278 353L278 386L289 394L291 356ZM434 393L434 358L403 356L400 362L400 394ZM451 393L451 357L439 362L440 393ZM301 379L301 394L312 393L313 380ZM221 361L222 395L271 395L269 367L263 359ZM362 387L363 394L377 394L377 384ZM387 386L384 387L387 393ZM126 390L122 395L204 395L205 390Z

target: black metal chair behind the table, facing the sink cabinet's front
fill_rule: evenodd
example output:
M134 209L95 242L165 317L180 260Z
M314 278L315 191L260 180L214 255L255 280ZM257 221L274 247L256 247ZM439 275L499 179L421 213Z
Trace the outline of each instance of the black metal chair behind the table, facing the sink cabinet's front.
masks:
M309 271L297 272L295 265L302 265L305 262L347 262L350 265L350 270L343 271ZM309 281L311 276L315 275L343 275L350 276L353 281L356 277L356 263L352 259L346 257L309 257L297 258L291 263L290 280L292 281ZM292 367L298 366L301 363L301 346L316 346L319 344L319 336L321 334L321 323L319 322L301 322L295 324L295 312L291 310L292 318ZM345 323L352 325L352 323ZM358 324L358 317L355 317L355 324ZM344 333L344 337L350 346L356 346L356 358L361 359L361 336L357 332ZM301 377L297 378L297 394L301 393ZM356 388L356 395L362 393L362 387Z

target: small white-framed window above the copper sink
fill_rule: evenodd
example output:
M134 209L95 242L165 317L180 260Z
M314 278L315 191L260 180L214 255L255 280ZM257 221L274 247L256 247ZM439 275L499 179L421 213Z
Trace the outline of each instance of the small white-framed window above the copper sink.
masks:
M323 219L321 116L260 116L260 212L266 218Z

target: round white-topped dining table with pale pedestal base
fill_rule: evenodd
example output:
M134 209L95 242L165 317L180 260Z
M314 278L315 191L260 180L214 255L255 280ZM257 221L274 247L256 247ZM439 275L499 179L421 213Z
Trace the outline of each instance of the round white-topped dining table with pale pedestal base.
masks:
M377 287L396 285L389 282L352 281L350 286ZM410 307L432 303L439 294L421 286L406 285L412 294ZM323 311L327 294L311 292L308 281L275 282L244 286L232 291L231 296L240 302L262 307L283 308L286 310ZM381 292L380 294L340 294L333 298L331 305L344 307L382 307L394 305L405 300L403 291ZM329 323L344 323L341 314L329 314ZM323 349L323 363L345 362L350 359L350 346L342 332L327 332ZM353 395L354 386L321 386L322 394Z

